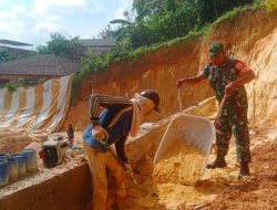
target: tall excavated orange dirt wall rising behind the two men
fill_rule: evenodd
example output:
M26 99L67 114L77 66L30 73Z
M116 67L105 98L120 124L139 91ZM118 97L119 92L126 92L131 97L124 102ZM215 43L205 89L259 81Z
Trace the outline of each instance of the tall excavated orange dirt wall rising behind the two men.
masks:
M70 107L64 126L73 123L76 129L83 129L89 124L88 98L92 93L132 97L135 92L155 88L161 95L162 114L168 116L177 112L176 80L197 74L208 61L207 48L213 41L228 45L229 54L253 66L258 75L256 82L249 85L255 84L256 115L263 116L263 119L268 118L265 115L271 114L275 106L265 106L265 103L268 98L275 98L276 94L269 94L263 87L265 83L267 87L276 83L276 32L274 32L277 25L274 21L276 19L276 13L267 13L265 10L242 12L232 20L219 23L205 38L161 49L135 61L115 63L105 71L88 76ZM263 76L264 74L267 77ZM249 98L253 97L253 87L248 92ZM194 87L191 85L182 87L184 107L211 95L212 91L205 82ZM259 101L264 103L258 103ZM249 113L253 113L252 109L250 103Z

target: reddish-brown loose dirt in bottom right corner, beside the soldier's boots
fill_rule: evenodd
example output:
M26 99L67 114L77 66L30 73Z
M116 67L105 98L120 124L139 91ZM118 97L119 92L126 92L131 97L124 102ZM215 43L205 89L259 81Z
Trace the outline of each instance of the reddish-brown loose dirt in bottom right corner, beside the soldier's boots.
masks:
M253 149L252 176L228 187L203 209L277 209L277 136L275 130L266 129L253 135L252 140L256 141L256 147ZM270 134L273 141L270 137L268 138ZM264 144L257 145L259 140L264 140Z

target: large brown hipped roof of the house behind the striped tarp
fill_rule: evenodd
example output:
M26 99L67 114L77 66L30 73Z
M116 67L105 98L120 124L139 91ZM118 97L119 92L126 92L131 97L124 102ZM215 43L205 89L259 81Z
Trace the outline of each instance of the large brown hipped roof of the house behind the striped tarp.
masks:
M62 76L76 72L80 62L53 54L37 54L0 64L0 75L45 75Z

